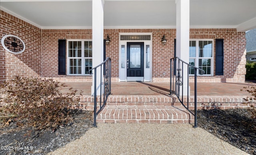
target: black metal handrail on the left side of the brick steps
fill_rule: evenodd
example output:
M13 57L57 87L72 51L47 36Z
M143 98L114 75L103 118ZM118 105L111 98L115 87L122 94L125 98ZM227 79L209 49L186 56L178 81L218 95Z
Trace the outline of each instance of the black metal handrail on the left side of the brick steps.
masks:
M102 66L103 66L103 76L102 76ZM100 67L100 109L97 111L97 68ZM111 59L107 57L100 65L89 70L92 75L92 70L94 70L94 122L93 125L96 127L96 117L100 111L106 105L108 96L111 94ZM103 104L102 104L102 78L104 78L104 92L103 92Z

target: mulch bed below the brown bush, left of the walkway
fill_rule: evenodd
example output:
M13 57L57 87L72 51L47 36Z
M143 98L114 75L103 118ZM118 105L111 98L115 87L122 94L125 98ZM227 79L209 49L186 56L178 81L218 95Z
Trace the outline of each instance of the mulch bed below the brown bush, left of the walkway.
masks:
M17 128L17 122L0 128L0 155L45 155L78 139L92 128L93 115L91 111L71 111L73 121L56 131Z

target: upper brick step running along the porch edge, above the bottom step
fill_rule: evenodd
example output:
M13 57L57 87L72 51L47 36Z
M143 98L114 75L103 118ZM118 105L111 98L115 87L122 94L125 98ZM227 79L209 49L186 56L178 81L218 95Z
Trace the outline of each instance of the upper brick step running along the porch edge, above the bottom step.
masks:
M243 104L246 96L198 96L197 109L228 109L228 108L247 108L253 106L253 103ZM100 98L97 98L99 101ZM194 109L194 98L189 98L189 108ZM184 102L187 99L184 98ZM97 103L99 106L99 102ZM179 100L173 96L166 95L110 95L106 106L182 106ZM80 99L80 105L74 108L93 110L94 97L83 96Z

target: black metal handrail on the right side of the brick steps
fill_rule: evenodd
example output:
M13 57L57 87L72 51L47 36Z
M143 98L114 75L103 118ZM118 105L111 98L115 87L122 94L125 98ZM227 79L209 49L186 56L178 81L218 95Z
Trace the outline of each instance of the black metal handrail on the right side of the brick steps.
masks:
M178 59L178 61L177 61ZM188 72L184 73L184 65L187 67ZM188 85L186 85L187 88L189 88L189 71L193 71L194 68L194 112L189 110L189 103L188 103L188 96L189 96L189 89L187 90L187 105L184 104L184 95L183 95L183 88L184 88L184 80L187 80ZM204 70L195 67L193 65L190 65L186 63L185 61L182 61L179 57L174 57L170 59L170 94L175 94L178 97L178 100L180 103L194 116L194 128L197 127L197 70L199 70L199 74L203 75ZM183 75L187 74L187 79L184 79ZM174 86L175 85L175 86ZM181 88L180 88L181 87ZM180 95L180 90L182 90Z

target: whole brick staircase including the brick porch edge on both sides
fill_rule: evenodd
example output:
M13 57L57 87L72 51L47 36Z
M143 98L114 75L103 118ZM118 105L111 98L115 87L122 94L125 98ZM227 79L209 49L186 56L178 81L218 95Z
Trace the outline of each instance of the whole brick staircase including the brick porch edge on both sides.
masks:
M242 104L244 97L246 96L198 96L198 109L246 108L252 106L252 104ZM97 100L100 99L97 98ZM184 98L184 100L186 102L187 98ZM74 108L94 110L93 96L85 95L80 101L80 106ZM190 96L188 101L190 109L194 110L193 96ZM97 116L97 122L194 124L194 116L174 96L110 95L106 106Z

